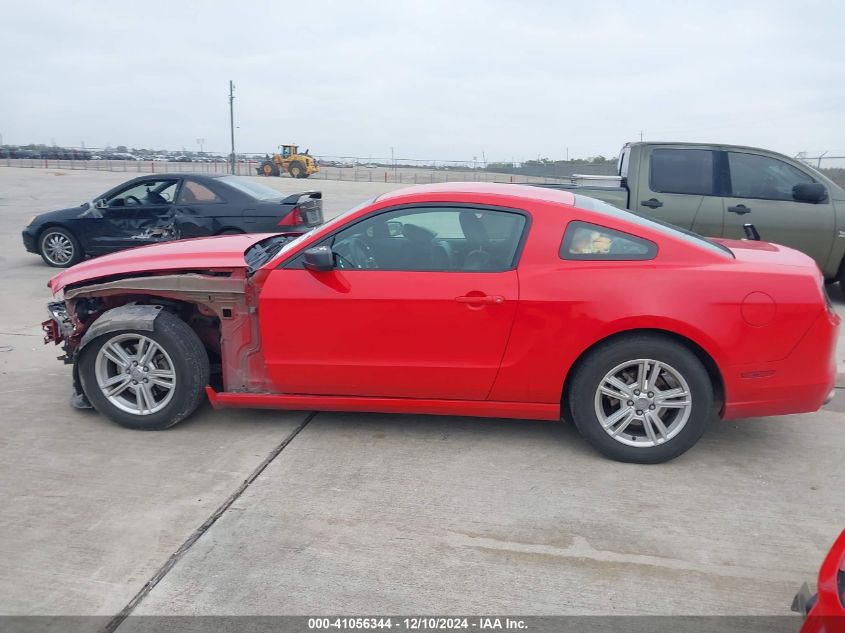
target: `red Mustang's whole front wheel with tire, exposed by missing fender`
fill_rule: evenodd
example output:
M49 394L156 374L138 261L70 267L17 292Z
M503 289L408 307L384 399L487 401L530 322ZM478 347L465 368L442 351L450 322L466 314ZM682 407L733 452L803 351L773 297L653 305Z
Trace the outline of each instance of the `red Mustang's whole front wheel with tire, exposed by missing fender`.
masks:
M162 311L152 332L108 332L78 361L82 390L97 411L142 431L169 428L190 415L208 384L208 355L194 331Z

